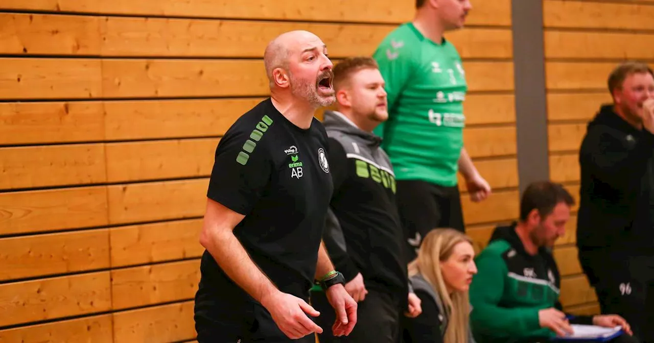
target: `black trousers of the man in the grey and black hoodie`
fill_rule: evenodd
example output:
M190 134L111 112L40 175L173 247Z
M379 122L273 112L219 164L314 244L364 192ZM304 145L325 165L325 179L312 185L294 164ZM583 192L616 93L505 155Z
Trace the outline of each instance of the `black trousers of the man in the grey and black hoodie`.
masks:
M320 311L315 320L322 327L318 335L320 343L399 343L400 342L400 310L392 297L387 293L368 290L366 299L358 302L356 310L356 325L349 336L335 337L332 326L336 320L336 312L330 305L324 292L311 292L311 306Z

